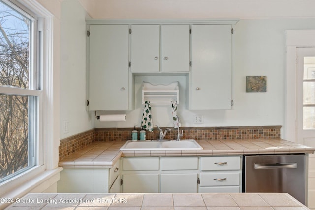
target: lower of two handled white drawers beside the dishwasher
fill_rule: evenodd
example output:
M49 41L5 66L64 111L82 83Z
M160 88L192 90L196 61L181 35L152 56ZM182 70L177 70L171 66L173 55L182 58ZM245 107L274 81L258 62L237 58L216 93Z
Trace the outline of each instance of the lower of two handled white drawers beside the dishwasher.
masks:
M233 186L240 185L240 172L201 173L200 186Z

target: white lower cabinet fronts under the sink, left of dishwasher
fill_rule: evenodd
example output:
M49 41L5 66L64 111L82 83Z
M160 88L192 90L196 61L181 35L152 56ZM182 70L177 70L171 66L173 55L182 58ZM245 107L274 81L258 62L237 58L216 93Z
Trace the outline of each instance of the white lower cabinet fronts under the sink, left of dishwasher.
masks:
M123 157L123 192L241 192L241 156Z

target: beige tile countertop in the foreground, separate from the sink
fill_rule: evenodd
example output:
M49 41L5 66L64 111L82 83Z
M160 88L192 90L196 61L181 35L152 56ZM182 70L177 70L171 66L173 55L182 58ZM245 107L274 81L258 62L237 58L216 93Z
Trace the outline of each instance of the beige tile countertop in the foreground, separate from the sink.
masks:
M287 193L29 193L6 210L309 210Z

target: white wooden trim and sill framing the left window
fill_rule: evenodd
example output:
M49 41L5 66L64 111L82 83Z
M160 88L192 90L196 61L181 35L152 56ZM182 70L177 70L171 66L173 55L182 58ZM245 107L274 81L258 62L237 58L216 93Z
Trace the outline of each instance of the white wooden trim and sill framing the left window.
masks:
M52 129L54 127L54 120L56 121L54 113L54 72L53 72L53 20L54 16L37 1L30 0L18 0L27 9L33 12L39 18L39 21L44 21L43 32L43 55L42 56L42 83L40 84L42 90L38 90L37 94L44 94L43 99L40 101L43 106L42 110L39 110L39 115L42 115L42 128L39 130L39 141L37 147L39 166L35 166L32 169L19 174L12 180L1 183L0 197L1 198L17 198L21 197L28 192L34 190L36 192L42 192L47 189L51 184L56 183L59 180L59 173L62 170L58 167L58 146L59 141L54 141L56 133ZM5 2L5 0L4 0ZM5 88L5 87L1 87ZM11 91L11 90L8 90ZM14 91L14 90L13 90ZM25 94L28 94L28 90ZM56 94L56 93L55 93ZM59 119L57 119L59 120ZM59 139L58 139L59 140ZM50 184L50 185L49 185ZM0 209L8 206L8 203L0 203Z

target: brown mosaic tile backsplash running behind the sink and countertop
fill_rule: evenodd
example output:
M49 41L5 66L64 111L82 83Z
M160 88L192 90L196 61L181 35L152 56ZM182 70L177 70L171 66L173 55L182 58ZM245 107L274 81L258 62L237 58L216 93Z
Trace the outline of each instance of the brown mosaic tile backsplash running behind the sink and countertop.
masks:
M166 127L162 129L165 130ZM165 139L176 139L177 129L172 127ZM195 140L227 140L227 139L277 139L280 138L281 126L246 126L246 127L181 127L181 139ZM94 141L126 141L131 140L133 128L95 128L60 140L59 159L74 153ZM138 129L138 131L140 131ZM146 132L146 139L158 139L159 130ZM139 135L138 135L139 139Z

